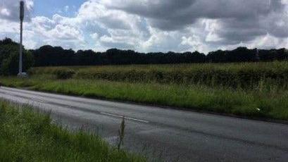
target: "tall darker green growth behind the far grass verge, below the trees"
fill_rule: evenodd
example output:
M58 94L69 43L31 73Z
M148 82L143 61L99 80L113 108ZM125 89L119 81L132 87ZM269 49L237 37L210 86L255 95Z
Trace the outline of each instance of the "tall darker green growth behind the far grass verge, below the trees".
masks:
M94 66L33 68L32 74L74 70L75 78L117 82L157 82L251 89L263 85L288 87L288 63L207 63L151 66Z

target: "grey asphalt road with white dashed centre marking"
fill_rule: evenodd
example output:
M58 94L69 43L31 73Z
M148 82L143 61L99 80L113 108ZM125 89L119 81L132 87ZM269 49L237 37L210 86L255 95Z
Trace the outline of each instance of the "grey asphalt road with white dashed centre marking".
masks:
M125 148L157 161L287 161L288 125L192 111L85 99L8 87L0 98L51 111L55 123L81 127L115 144L126 118Z

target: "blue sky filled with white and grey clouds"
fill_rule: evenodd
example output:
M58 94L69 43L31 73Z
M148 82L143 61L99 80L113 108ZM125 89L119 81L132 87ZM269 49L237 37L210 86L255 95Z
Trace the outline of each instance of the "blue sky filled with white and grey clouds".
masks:
M0 39L19 42L19 0L0 0ZM65 49L288 48L288 0L25 0L23 44Z

